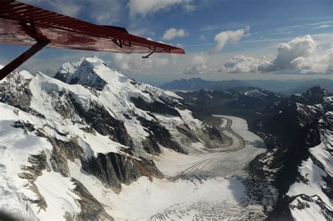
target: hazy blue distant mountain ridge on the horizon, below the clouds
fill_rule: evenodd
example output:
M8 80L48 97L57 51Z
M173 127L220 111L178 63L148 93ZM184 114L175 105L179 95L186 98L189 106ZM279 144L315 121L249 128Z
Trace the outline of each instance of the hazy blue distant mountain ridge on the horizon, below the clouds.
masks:
M252 86L246 81L231 80L231 81L207 81L201 78L181 79L164 83L161 88L164 90L174 91L197 91L201 89L210 90L226 90L240 86Z

